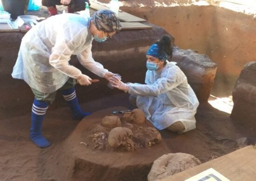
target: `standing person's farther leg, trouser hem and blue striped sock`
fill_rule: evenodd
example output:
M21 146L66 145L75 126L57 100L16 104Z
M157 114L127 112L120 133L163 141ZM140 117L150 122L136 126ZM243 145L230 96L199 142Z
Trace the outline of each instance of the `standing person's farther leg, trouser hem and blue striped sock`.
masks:
M78 103L78 98L76 97L74 85L76 84L76 80L73 78L69 78L67 82L61 87L61 93L66 100L68 106L72 111L72 117L74 120L81 120L85 116L89 116L92 114L91 112L83 112Z

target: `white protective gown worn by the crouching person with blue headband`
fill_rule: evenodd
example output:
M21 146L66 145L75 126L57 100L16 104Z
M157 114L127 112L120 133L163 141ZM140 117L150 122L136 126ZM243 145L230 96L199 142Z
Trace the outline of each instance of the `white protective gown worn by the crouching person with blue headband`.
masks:
M185 127L183 132L195 129L199 103L187 77L175 62L167 63L161 72L148 70L145 83L129 83L128 92L137 95L138 108L143 110L155 128L166 129L181 121Z

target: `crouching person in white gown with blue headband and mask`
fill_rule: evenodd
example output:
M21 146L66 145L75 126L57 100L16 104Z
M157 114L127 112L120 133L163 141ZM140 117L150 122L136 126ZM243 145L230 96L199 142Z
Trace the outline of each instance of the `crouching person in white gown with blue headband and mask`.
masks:
M146 57L146 84L124 84L115 77L110 78L110 83L131 94L130 102L143 110L155 128L179 134L195 129L199 103L185 74L174 62L167 60L172 57L170 38L163 36L156 41Z

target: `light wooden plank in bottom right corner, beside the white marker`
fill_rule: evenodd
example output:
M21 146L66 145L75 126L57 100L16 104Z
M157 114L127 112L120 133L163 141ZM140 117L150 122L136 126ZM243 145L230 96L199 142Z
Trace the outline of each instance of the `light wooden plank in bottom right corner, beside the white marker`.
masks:
M238 149L228 155L161 179L161 181L184 181L209 168L214 168L230 181L256 181L256 146Z

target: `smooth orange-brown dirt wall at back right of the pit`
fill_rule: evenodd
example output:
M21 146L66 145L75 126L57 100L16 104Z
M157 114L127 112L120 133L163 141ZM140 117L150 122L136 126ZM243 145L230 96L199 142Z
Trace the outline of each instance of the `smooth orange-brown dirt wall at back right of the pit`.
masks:
M143 1L143 0L141 0ZM181 49L198 50L217 64L216 94L231 95L239 73L256 60L256 19L217 6L121 7L161 26Z

